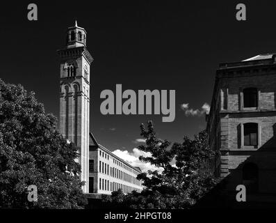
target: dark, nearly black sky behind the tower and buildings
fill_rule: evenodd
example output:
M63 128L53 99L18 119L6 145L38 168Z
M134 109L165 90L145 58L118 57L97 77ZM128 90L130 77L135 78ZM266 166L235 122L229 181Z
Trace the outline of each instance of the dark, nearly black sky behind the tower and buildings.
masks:
M29 3L38 21L27 20ZM236 20L236 4L247 21ZM140 123L152 119L159 137L181 141L205 128L204 116L186 116L182 103L211 103L218 63L276 52L274 1L20 1L1 2L1 72L8 83L35 91L47 112L58 116L59 58L74 20L88 32L91 67L90 131L107 148L132 150ZM176 90L176 118L104 116L101 91ZM115 130L114 130L115 129Z

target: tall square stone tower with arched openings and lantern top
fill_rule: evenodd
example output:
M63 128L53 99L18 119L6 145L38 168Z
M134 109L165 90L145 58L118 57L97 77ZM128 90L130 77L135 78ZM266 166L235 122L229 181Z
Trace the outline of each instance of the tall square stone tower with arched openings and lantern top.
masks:
M76 23L67 29L66 47L60 56L60 133L79 148L81 180L89 188L89 100L90 64L93 59L86 48L86 30Z

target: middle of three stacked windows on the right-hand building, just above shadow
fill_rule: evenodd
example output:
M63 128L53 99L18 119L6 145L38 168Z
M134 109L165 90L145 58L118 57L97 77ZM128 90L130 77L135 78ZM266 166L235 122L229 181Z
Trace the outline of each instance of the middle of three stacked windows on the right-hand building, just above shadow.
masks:
M257 123L243 124L243 144L245 146L258 145L258 124Z

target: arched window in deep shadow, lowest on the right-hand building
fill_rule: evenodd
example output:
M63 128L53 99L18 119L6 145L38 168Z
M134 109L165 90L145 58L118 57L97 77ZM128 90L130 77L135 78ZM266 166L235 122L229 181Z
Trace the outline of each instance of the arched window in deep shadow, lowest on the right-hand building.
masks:
M245 163L243 166L243 185L249 193L258 192L259 187L259 168L252 162Z

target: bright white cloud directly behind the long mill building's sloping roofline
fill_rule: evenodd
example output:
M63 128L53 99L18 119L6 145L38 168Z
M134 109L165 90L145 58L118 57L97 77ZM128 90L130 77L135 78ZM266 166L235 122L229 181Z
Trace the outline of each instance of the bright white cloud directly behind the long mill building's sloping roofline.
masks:
M113 151L113 153L122 160L131 164L133 167L139 167L143 172L147 172L148 170L158 170L159 172L163 171L163 168L157 168L154 165L149 164L149 162L140 161L140 155L143 155L144 157L150 157L151 153L145 153L140 151L138 148L133 148L131 153L129 153L129 151L121 151L120 149Z

